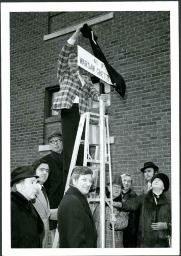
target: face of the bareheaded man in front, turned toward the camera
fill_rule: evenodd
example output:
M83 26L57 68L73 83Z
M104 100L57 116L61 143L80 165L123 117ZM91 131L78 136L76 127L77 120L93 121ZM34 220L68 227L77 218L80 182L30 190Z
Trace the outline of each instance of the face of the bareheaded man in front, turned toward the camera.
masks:
M78 180L73 179L73 185L79 189L79 191L86 195L92 185L93 177L91 174L80 175Z

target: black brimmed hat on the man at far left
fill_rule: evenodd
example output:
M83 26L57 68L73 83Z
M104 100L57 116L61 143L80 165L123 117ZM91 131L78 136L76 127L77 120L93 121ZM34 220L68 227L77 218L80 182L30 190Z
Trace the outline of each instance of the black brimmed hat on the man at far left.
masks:
M17 181L24 180L31 177L39 178L38 175L35 175L34 169L32 166L26 165L26 166L17 167L11 173L11 186Z

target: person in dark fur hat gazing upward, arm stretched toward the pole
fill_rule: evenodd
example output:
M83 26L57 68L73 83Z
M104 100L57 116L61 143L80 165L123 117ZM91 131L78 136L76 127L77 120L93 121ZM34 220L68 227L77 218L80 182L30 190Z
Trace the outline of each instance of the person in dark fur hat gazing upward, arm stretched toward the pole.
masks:
M169 178L163 173L151 179L152 189L148 193L114 205L122 210L140 209L137 247L168 247L166 236L171 229L171 207L165 195Z

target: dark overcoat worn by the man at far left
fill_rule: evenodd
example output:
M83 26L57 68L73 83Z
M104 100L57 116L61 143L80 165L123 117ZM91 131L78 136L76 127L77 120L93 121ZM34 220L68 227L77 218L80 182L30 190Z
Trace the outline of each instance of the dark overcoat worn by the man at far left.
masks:
M11 248L41 248L43 229L32 203L18 191L11 192Z

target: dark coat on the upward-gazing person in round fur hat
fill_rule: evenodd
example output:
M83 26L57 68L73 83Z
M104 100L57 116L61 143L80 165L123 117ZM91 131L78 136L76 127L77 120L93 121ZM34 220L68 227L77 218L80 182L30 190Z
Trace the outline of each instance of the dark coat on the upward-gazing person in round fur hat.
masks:
M171 225L171 207L164 193L155 204L152 189L148 193L132 198L122 203L124 210L140 208L140 221L137 247L167 247L166 236ZM153 230L153 222L166 222L168 230Z

